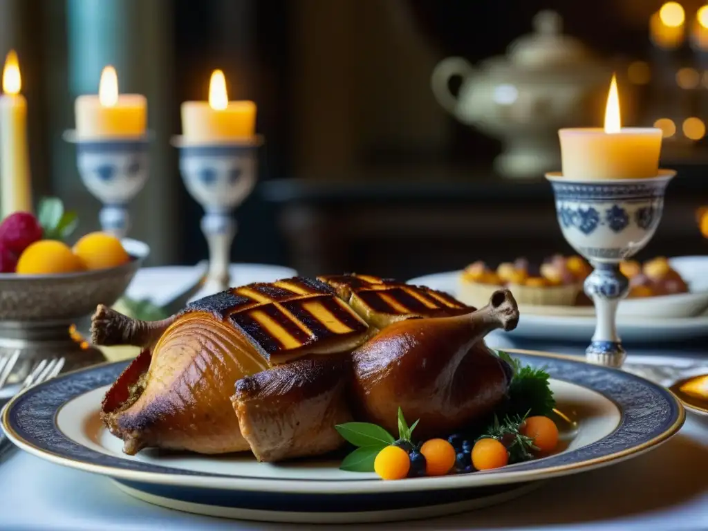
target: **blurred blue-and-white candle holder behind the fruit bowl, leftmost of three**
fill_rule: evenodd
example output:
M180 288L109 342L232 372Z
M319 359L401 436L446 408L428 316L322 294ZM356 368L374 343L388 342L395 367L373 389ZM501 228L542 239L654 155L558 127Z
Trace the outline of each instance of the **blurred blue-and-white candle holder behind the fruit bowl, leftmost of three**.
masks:
M130 230L130 201L144 187L149 174L150 135L142 137L90 139L64 134L76 144L76 164L81 181L101 201L98 214L103 232L125 238Z

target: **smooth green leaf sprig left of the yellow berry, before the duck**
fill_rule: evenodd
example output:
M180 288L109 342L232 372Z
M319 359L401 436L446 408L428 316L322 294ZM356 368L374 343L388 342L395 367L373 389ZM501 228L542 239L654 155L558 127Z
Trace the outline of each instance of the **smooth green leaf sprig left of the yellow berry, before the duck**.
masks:
M377 424L369 422L337 424L334 428L339 435L357 447L343 459L339 468L349 472L374 472L376 456L385 447L396 443L407 443L414 446L411 434L416 426L418 426L418 421L415 421L410 427L408 426L400 407L398 411L398 440L394 439L393 435Z

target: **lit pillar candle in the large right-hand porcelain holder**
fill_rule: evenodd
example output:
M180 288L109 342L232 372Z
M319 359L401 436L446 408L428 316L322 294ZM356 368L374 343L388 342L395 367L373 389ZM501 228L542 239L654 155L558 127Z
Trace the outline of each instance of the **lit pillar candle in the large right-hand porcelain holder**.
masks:
M577 181L658 175L661 129L621 127L617 79L612 77L605 128L561 129L563 176Z

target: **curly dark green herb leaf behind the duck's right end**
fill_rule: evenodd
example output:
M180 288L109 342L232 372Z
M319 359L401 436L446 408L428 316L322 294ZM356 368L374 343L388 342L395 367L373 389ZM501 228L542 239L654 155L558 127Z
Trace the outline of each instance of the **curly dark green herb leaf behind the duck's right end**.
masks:
M506 361L513 372L509 385L506 415L549 415L556 406L550 386L550 375L541 368L522 365L503 350L497 355Z

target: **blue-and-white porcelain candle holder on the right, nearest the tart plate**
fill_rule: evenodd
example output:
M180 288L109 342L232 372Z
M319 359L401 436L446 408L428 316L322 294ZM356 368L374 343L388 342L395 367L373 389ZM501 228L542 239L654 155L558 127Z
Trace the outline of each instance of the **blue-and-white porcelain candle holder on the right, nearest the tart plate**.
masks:
M585 292L593 299L597 325L586 350L589 362L622 367L627 354L617 334L617 307L629 280L619 263L644 248L656 232L673 170L649 179L573 181L547 173L566 241L593 265Z

